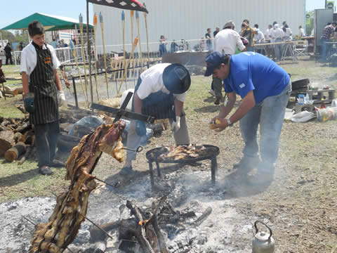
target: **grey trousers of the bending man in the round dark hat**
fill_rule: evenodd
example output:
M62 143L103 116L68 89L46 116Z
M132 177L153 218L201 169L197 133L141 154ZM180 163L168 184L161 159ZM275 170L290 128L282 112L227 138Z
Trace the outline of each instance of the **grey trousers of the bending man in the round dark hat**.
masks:
M169 119L170 124L173 119ZM126 141L126 147L136 150L145 136L138 136L136 133L136 120L131 121L128 128L128 139ZM174 140L177 145L180 144L190 144L190 136L188 135L188 129L186 124L185 112L181 112L180 116L180 129L174 133ZM127 150L126 151L126 161L136 160L136 152Z

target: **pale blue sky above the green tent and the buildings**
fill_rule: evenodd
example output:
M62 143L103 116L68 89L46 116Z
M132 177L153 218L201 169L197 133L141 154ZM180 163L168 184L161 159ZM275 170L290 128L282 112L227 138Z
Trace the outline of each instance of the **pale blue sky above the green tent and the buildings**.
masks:
M337 0L335 0L335 4L337 5ZM0 29L34 13L60 15L69 18L76 18L77 20L79 18L79 13L81 13L83 15L84 22L86 22L85 0L0 0L0 6ZM6 8L5 6L11 7ZM306 11L312 11L315 8L324 8L324 6L325 0L306 0ZM92 4L89 4L89 17L91 18L89 22L91 23L93 22L92 9Z

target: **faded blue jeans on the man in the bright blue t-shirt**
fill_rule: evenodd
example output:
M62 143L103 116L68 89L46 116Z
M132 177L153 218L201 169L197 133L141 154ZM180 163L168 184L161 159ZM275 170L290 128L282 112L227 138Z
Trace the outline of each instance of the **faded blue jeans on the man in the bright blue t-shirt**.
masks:
M286 104L291 93L291 82L277 96L268 96L256 104L240 120L242 138L245 147L244 157L258 156L257 131L260 124L260 156L262 163L274 164L279 153L279 136L281 134Z

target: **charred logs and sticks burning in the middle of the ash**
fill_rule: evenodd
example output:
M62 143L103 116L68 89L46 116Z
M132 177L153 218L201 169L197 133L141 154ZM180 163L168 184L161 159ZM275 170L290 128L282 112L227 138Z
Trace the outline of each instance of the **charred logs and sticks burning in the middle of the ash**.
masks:
M166 236L174 237L180 231L185 231L185 224L192 223L192 226L199 226L211 214L212 209L208 207L204 214L197 220L190 221L195 218L194 212L175 211L167 196L161 197L158 201L152 202L152 207L141 209L134 202L127 201L126 205L121 205L120 212L127 207L130 210L132 218L105 223L100 228L107 231L119 231L119 240L121 243L119 249L124 252L169 252L166 247ZM187 221L189 220L189 221ZM91 229L91 235L95 240L106 240L105 233L100 228Z

